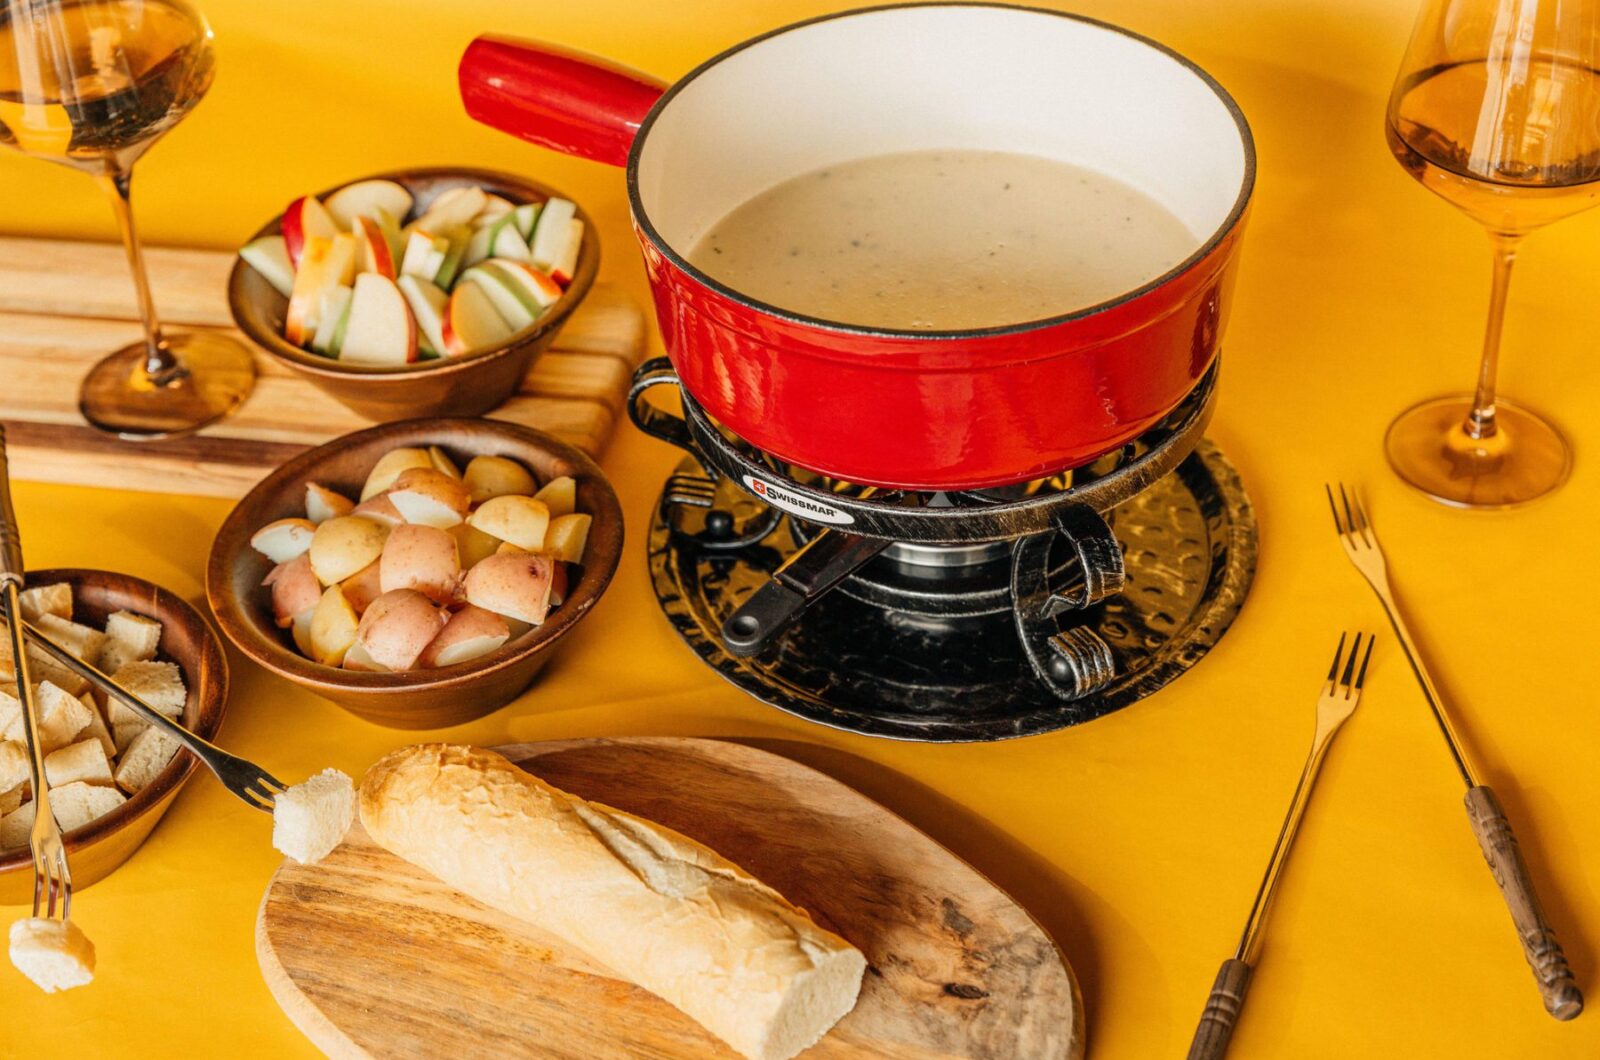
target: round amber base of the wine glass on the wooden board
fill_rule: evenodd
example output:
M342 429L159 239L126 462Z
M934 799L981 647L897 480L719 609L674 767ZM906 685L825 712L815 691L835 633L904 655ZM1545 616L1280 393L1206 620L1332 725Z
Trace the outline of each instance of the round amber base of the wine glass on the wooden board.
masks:
M78 412L91 428L133 442L189 434L232 413L256 386L254 357L227 335L184 331L163 341L182 365L165 384L146 371L144 343L90 368Z

